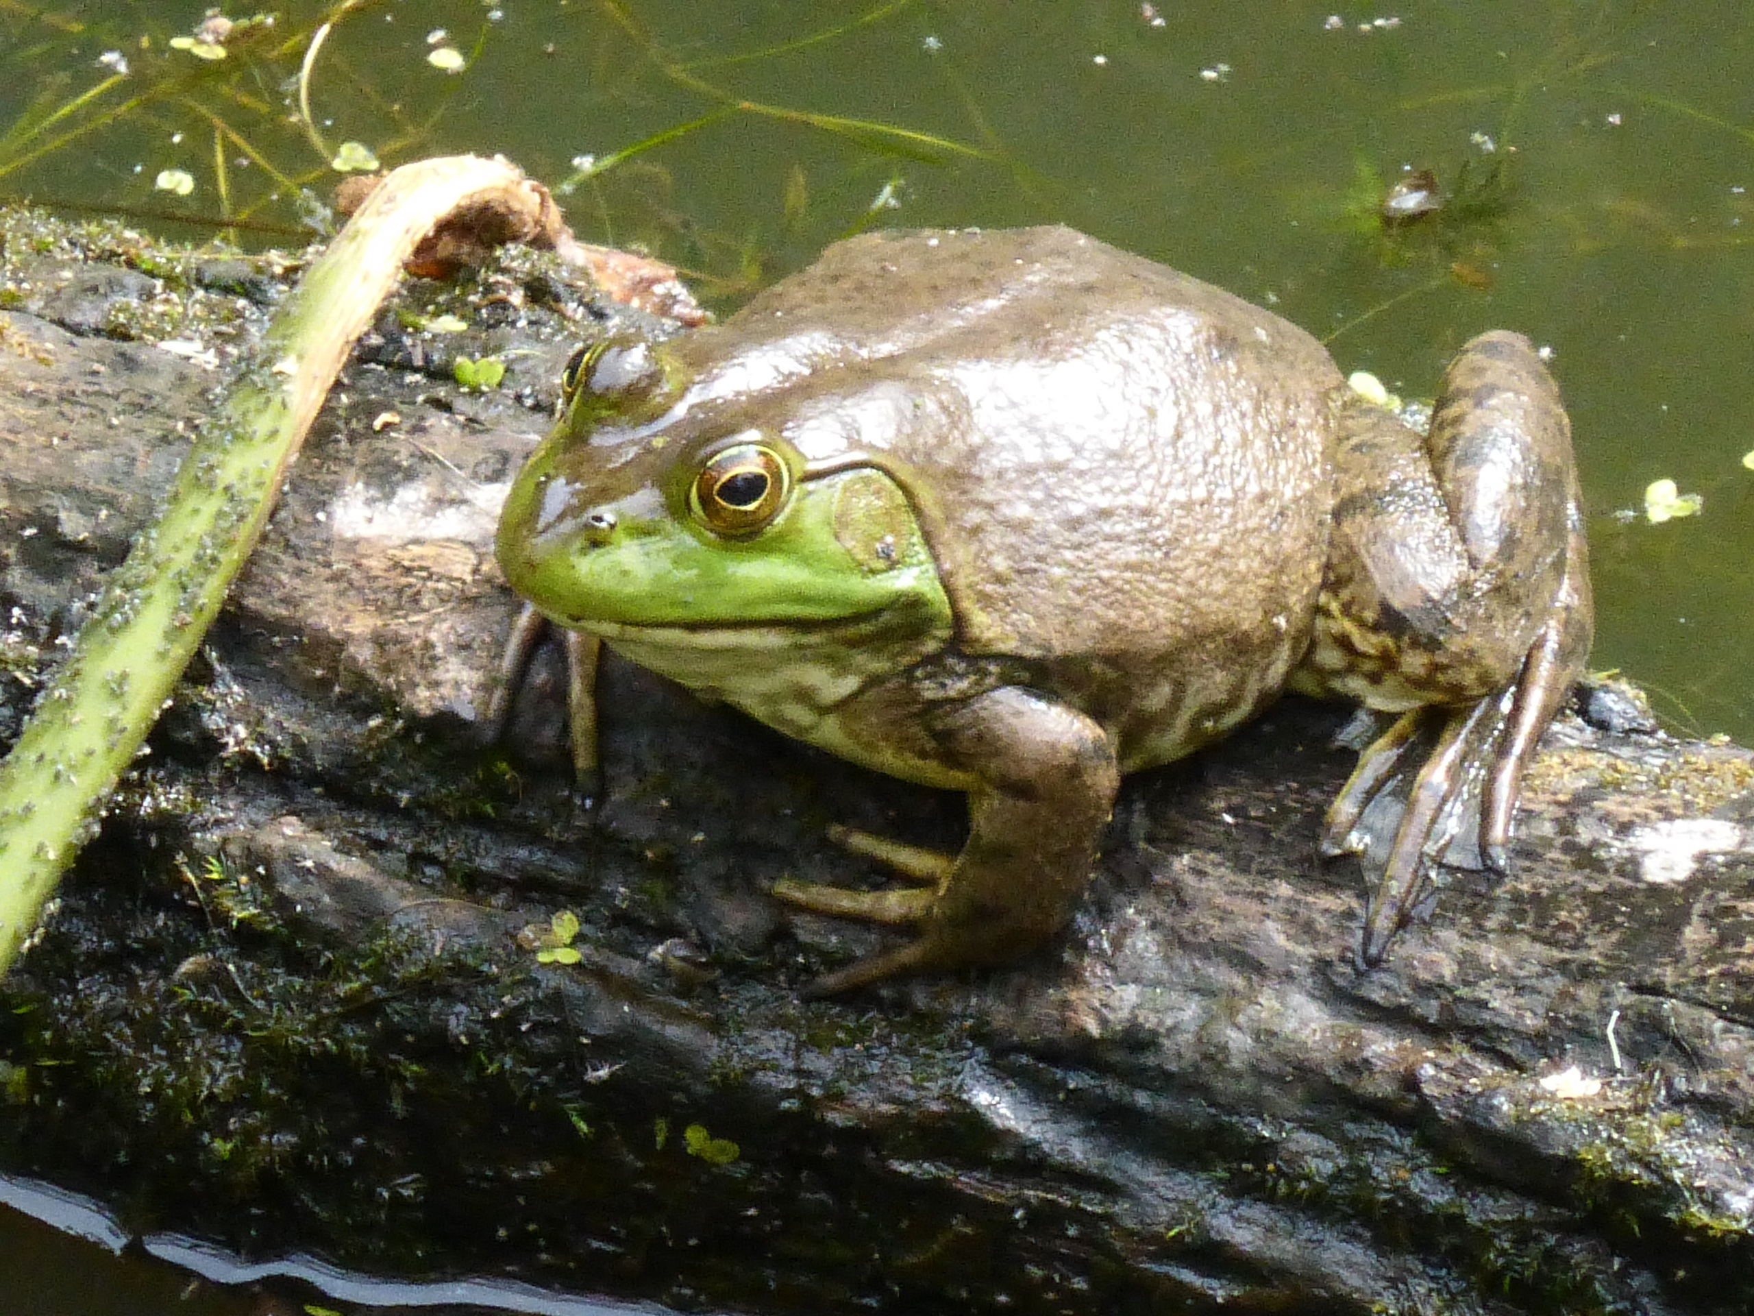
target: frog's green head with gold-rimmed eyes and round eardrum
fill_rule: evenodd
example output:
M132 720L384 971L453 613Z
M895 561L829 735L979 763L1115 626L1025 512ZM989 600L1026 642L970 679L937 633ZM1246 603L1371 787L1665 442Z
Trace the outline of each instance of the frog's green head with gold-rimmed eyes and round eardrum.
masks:
M663 346L617 342L577 354L561 395L498 533L507 581L560 625L949 625L902 481L812 470L756 418L772 398L717 397Z

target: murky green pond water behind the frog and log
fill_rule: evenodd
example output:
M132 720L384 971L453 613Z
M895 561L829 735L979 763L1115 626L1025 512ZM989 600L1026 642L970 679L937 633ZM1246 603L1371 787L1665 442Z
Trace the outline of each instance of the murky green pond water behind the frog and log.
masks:
M1743 0L295 2L223 42L202 9L0 0L0 195L296 244L332 160L498 151L717 307L865 226L1061 221L1407 395L1519 328L1573 416L1593 665L1754 740ZM1442 209L1386 228L1419 170ZM1696 514L1652 521L1659 479Z

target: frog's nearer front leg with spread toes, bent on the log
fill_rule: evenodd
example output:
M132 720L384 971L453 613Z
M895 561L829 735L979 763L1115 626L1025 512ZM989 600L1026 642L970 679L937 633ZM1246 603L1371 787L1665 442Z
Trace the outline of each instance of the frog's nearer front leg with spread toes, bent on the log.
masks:
M916 941L858 960L812 984L845 991L893 974L1012 960L1058 932L1084 886L1114 809L1119 767L1103 730L1077 709L1019 686L940 704L928 730L947 763L968 770L968 842L952 862L930 851L852 848L926 886L854 891L779 881L774 895L803 909L912 923Z

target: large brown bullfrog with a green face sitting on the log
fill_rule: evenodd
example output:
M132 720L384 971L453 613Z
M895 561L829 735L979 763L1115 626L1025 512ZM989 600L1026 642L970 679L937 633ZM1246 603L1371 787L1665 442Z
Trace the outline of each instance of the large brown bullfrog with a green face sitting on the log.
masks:
M1591 637L1526 339L1466 344L1415 433L1294 325L1066 228L858 237L724 325L581 353L498 554L561 626L968 793L959 855L851 837L910 886L775 884L910 928L830 991L1037 946L1119 776L1282 690L1372 711L1323 848L1373 856L1373 962L1433 863L1505 867Z

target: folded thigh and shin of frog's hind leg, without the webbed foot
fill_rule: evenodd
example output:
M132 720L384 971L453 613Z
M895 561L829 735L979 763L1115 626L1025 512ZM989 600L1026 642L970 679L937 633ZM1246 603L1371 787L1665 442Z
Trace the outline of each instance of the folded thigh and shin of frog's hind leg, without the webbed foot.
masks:
M1528 340L1451 365L1424 439L1345 400L1319 684L1382 709L1503 690L1552 618L1572 551L1572 439Z

